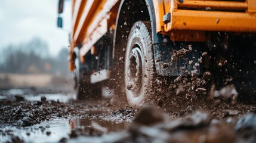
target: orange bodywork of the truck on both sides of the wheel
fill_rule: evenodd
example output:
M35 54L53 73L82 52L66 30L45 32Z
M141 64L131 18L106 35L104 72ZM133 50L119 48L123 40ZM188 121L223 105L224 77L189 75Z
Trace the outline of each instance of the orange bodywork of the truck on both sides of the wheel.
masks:
M203 42L208 31L256 32L255 0L149 1L145 3L147 7L153 4L151 11L155 17L150 20L155 23L155 32L169 36L172 41ZM118 18L122 17L119 10L124 4L125 1L119 0L72 0L70 71L75 69L72 61L75 46L82 45L79 54L83 61L82 57L98 39L116 29Z

